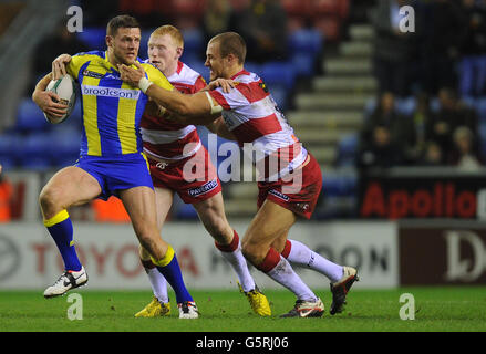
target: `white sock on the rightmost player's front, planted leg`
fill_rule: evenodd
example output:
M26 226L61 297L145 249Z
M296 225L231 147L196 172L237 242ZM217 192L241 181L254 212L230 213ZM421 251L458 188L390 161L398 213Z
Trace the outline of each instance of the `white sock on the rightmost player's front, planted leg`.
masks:
M312 290L293 271L290 263L281 256L278 264L266 274L293 292L298 300L316 301L318 299Z

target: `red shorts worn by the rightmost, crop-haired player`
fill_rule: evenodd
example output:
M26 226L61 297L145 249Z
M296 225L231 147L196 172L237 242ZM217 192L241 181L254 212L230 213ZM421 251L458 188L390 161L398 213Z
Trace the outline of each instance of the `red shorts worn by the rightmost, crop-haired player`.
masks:
M322 189L322 174L316 158L309 153L308 163L293 171L292 179L286 177L267 183L258 183L258 208L266 199L310 219Z

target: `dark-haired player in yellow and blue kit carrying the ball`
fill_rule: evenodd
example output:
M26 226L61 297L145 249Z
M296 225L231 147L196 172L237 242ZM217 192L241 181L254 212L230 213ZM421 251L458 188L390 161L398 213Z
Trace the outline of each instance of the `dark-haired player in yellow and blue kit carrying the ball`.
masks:
M58 171L44 186L40 206L44 225L64 261L65 272L44 291L45 298L64 294L87 282L73 242L73 226L68 208L94 198L118 197L132 220L139 243L176 293L180 319L198 316L187 291L174 249L165 242L156 223L155 194L139 132L148 101L138 87L124 83L117 65L137 61L141 41L138 22L128 15L112 19L106 28L107 51L60 55L52 73L43 77L32 95L42 111L60 116L65 106L56 95L45 92L51 79L66 73L80 86L83 129L80 159ZM166 90L173 86L152 64L142 64L147 77Z

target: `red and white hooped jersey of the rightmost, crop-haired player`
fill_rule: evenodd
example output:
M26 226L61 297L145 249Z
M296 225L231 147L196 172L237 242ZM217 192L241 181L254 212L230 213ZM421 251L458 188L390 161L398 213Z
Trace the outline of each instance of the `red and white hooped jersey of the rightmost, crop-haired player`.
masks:
M256 163L260 178L282 178L306 160L308 152L257 74L242 70L231 80L237 84L229 93L218 87L209 94L224 108L228 129Z

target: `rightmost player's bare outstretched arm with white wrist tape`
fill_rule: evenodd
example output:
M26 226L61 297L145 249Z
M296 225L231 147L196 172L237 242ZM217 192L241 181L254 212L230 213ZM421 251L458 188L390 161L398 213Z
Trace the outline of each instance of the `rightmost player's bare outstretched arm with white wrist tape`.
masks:
M145 77L145 71L138 63L135 65L137 70L120 65L122 80L133 86L138 86L147 96L168 111L183 116L197 116L197 123L193 124L199 125L206 125L220 115L223 107L207 92L185 95L177 90L162 88L157 82L154 84Z

